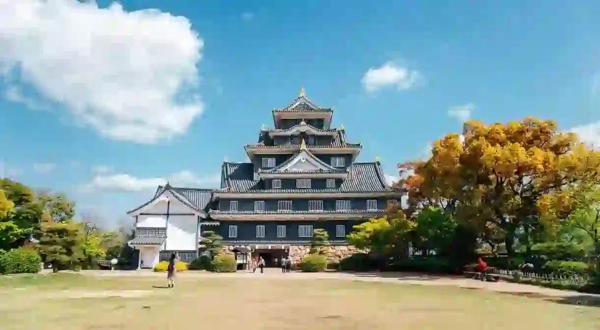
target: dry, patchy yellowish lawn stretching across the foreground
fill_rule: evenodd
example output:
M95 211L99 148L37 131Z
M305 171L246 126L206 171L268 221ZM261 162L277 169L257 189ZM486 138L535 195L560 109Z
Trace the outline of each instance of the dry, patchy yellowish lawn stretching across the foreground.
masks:
M600 329L600 308L347 280L0 277L0 329Z

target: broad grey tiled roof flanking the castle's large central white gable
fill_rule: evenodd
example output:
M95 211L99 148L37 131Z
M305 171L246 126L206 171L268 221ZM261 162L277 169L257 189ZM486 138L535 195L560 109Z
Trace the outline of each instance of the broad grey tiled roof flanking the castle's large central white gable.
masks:
M367 193L393 191L385 181L379 162L354 163L348 168L348 178L339 189L269 189L263 190L254 180L252 163L224 163L223 187L232 193Z

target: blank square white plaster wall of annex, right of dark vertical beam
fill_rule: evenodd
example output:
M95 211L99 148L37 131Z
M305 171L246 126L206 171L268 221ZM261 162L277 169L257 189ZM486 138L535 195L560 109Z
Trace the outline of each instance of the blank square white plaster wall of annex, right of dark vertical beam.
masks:
M197 230L196 215L169 215L165 250L196 250Z

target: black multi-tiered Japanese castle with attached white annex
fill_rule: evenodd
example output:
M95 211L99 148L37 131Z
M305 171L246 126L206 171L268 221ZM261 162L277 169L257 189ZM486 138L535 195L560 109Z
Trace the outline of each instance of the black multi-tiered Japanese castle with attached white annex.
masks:
M224 162L221 188L158 187L154 197L128 212L136 220L139 267L149 268L177 252L191 262L202 252L200 233L223 236L238 263L262 256L267 266L281 257L297 262L308 253L314 229L329 233L329 260L352 254L352 226L379 217L400 200L386 183L379 161L356 162L360 143L331 128L333 110L301 95L272 111L273 129L244 147L247 163ZM236 249L237 248L237 249ZM250 251L250 252L248 252Z

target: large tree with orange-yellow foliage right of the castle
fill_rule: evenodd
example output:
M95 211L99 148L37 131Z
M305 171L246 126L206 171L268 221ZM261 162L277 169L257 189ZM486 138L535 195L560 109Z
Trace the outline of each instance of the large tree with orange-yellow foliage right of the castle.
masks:
M600 153L577 143L574 134L560 133L553 121L469 121L463 136L438 140L430 160L414 172L409 188L418 187L425 199L445 208L455 207L459 218L479 232L494 224L512 254L523 220L539 214L539 199L598 175Z

